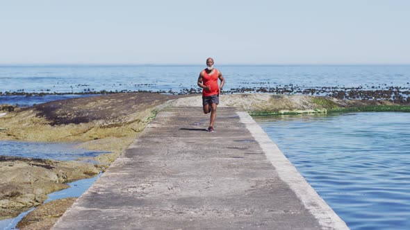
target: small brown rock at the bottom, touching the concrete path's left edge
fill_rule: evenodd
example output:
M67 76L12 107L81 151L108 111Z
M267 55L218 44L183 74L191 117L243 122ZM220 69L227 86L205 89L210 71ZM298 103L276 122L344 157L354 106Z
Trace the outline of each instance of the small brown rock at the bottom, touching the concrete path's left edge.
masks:
M18 224L21 230L46 230L51 229L65 211L72 206L77 198L53 200L38 206L28 213Z

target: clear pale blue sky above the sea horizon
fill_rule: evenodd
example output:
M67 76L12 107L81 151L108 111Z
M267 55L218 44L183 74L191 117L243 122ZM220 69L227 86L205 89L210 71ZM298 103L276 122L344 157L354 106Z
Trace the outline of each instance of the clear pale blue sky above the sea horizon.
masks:
M0 0L0 64L410 64L408 0Z

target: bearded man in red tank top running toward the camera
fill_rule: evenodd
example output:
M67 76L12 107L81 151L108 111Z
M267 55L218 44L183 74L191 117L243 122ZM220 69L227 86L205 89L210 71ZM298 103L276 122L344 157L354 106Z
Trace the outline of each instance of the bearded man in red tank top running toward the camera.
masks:
M218 86L218 79L221 81ZM199 73L198 86L202 88L202 106L204 114L211 112L208 132L215 132L213 125L216 118L216 107L219 104L219 94L225 84L224 77L218 69L213 68L213 59L206 59L206 69Z

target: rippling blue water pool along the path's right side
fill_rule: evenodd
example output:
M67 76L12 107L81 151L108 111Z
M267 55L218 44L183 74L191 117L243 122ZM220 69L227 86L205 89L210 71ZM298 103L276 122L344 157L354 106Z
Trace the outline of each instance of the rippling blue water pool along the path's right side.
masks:
M255 120L351 229L409 229L409 113Z

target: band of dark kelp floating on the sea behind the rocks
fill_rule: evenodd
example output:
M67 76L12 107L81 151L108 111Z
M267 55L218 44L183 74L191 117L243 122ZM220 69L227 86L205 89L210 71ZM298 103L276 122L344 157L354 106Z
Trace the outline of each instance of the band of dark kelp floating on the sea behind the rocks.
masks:
M358 87L344 87L344 86L331 86L331 87L306 87L300 85L276 85L270 86L270 82L240 82L243 87L225 89L223 94L249 94L249 93L267 93L277 95L311 95L311 96L328 96L331 98L347 99L347 100L388 100L391 103L410 104L410 82L407 82L407 87L404 86L389 86L384 85L360 85ZM51 89L43 90L40 92L26 92L24 89L19 91L0 91L0 96L46 96L46 95L106 95L106 94L122 94L122 93L154 93L154 94L170 94L170 95L187 95L187 94L201 94L202 89L198 87L190 87L181 89L178 91L172 90L137 90L132 91L129 89L115 90L115 91L95 91L94 89L83 89L83 91L72 92L52 92Z

